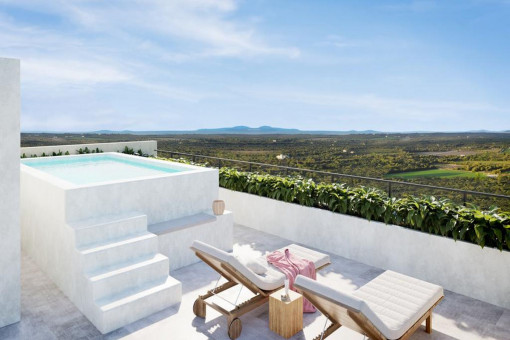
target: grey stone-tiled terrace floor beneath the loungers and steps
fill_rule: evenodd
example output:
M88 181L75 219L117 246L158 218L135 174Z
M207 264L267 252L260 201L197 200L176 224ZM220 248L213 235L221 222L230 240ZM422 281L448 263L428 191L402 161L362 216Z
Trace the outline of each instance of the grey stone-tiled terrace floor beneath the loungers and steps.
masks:
M263 253L291 243L242 226L236 226L234 233L235 251ZM317 279L343 289L356 289L383 271L339 256L332 255L331 260L332 265L321 271ZM204 263L171 274L183 284L180 305L103 336L32 260L24 256L21 322L0 328L0 339L228 339L224 317L208 309L203 320L195 318L192 312L195 298L214 286L217 274ZM244 292L248 294L246 289ZM422 326L412 339L510 339L508 309L446 291L445 299L435 311L432 335L426 334ZM241 320L240 339L283 339L268 329L267 305ZM312 339L320 332L324 321L319 312L306 314L304 331L292 339ZM363 336L342 327L328 339L363 339Z

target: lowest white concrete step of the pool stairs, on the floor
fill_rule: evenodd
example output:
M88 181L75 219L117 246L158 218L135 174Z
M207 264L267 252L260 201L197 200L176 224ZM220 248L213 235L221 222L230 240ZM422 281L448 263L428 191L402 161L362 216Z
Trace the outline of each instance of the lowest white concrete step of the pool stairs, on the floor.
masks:
M101 333L111 332L119 327L161 311L181 301L182 286L171 276L161 282L148 284L142 289L128 291L96 301L102 315L98 329Z

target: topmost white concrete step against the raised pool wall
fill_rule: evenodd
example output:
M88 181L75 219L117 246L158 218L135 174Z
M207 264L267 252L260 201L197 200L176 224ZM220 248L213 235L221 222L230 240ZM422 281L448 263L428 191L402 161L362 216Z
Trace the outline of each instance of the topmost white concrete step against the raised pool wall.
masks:
M85 248L95 243L147 231L147 216L140 213L109 215L74 222L76 247Z

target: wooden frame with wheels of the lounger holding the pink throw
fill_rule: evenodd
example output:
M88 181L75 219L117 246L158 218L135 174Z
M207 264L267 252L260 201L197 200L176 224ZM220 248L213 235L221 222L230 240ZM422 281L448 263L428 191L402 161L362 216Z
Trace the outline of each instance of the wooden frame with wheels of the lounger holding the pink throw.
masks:
M216 311L220 312L221 314L227 317L229 338L232 340L238 338L241 335L242 331L242 324L239 317L267 303L269 301L269 295L281 289L283 285L273 290L260 289L257 285L255 285L252 281L246 278L246 276L241 274L239 271L237 271L229 263L225 263L224 261L221 261L213 256L210 256L209 254L206 254L198 249L195 248L191 249L195 252L196 256L199 259L207 263L212 269L214 269L216 272L218 272L221 276L223 276L227 280L227 282L225 282L224 284L207 291L207 293L205 293L204 295L199 295L198 298L195 300L195 303L193 304L193 313L195 313L195 315L200 318L205 318L206 306L215 309ZM316 271L323 269L329 264L330 263L327 263L319 268L316 268ZM207 299L210 298L211 296L226 291L227 289L230 289L238 284L248 288L253 294L255 294L255 296L249 300L237 304L235 308L231 310L226 310L225 308L219 306L218 304L212 301L207 301Z

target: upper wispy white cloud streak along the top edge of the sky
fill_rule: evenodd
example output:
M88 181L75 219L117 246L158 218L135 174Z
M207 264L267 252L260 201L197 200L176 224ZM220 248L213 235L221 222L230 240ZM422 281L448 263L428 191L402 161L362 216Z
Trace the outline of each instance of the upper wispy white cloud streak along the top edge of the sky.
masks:
M131 0L50 1L34 5L27 0L0 0L30 10L59 15L86 32L131 40L158 35L161 48L174 50L172 41L183 46L179 55L197 57L250 57L274 55L295 58L299 49L267 43L252 23L232 19L237 3L232 0ZM169 45L172 48L169 48Z

